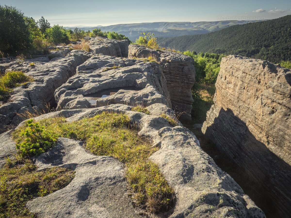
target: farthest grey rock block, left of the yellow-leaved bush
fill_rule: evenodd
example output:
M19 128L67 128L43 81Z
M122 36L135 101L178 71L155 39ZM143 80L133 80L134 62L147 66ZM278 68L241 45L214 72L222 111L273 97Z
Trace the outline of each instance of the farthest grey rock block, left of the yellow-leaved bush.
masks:
M86 38L90 44L90 50L94 54L104 54L114 57L127 57L129 40L115 40L102 37Z

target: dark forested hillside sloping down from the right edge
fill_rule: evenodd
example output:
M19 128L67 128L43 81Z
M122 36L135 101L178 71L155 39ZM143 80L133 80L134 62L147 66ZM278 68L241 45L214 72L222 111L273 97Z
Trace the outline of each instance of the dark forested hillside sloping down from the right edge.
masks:
M180 51L237 54L279 63L291 60L291 15L235 25L203 35L157 38L160 46Z

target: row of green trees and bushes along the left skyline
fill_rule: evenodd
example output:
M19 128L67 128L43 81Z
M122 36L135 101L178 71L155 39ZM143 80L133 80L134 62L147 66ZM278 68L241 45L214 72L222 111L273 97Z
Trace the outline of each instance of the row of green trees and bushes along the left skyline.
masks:
M0 5L0 56L43 53L47 45L69 44L86 36L102 36L111 39L128 39L117 32L102 32L100 29L84 31L78 28L65 29L53 25L44 18L35 20L12 6Z

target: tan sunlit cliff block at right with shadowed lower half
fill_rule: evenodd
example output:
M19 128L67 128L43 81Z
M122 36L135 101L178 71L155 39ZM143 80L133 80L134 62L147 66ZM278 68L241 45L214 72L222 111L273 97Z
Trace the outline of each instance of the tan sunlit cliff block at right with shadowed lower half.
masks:
M220 67L202 131L291 217L291 70L241 56Z

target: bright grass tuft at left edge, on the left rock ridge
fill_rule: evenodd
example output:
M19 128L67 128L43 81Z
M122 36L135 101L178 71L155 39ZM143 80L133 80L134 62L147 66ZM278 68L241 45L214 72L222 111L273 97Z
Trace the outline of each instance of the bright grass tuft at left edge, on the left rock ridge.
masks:
M6 99L13 92L14 87L22 85L26 82L33 81L29 76L26 76L22 71L9 71L0 76L0 101Z

